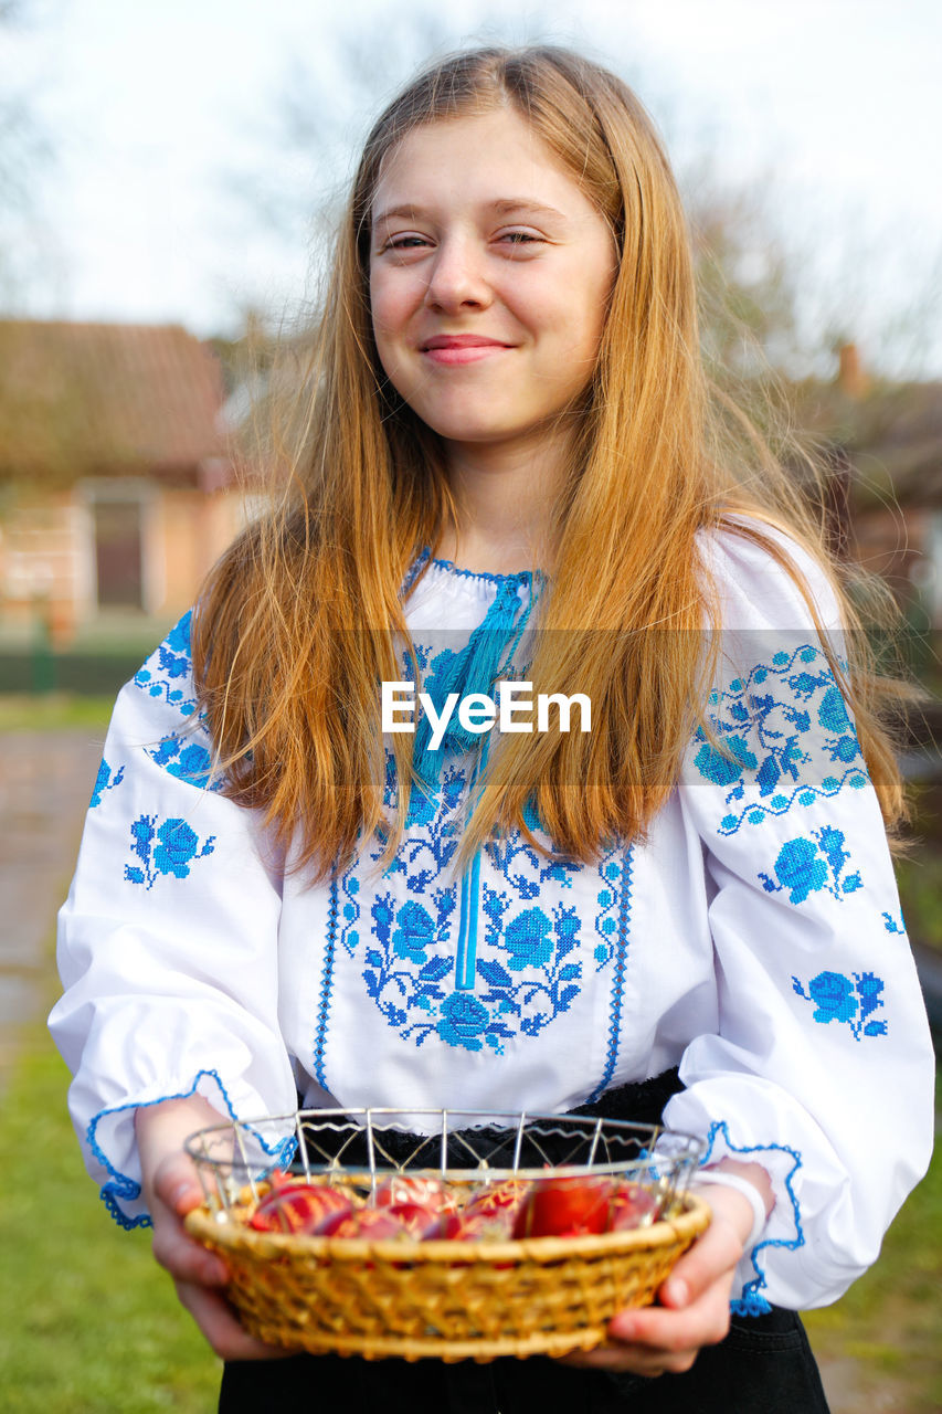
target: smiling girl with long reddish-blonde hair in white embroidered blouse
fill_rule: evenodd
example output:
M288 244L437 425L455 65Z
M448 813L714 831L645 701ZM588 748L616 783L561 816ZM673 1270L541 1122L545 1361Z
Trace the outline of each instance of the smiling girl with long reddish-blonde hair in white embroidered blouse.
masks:
M119 699L61 913L106 1205L153 1222L223 1408L823 1410L795 1311L876 1258L932 1137L900 781L809 513L719 451L624 83L533 48L410 85L301 382L279 509ZM509 680L581 723L446 724ZM272 1365L184 1234L181 1143L297 1094L663 1113L713 1223L590 1355Z

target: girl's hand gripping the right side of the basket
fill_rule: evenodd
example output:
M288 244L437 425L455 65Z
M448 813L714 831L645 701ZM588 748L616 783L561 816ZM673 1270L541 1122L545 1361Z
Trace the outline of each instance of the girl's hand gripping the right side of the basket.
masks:
M750 1172L755 1165L728 1165ZM760 1169L768 1191L768 1176ZM659 1305L620 1311L608 1325L610 1342L597 1350L564 1356L566 1365L653 1377L689 1370L702 1346L717 1345L730 1329L730 1292L752 1210L734 1188L710 1188L713 1220L678 1261L658 1292Z

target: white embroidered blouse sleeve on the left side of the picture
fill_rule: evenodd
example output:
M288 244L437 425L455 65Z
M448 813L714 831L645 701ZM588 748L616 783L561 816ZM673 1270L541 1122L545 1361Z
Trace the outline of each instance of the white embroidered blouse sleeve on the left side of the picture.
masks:
M65 990L50 1028L85 1161L122 1226L150 1222L139 1106L199 1093L221 1120L296 1109L279 916L256 822L211 769L187 617L117 699L58 925Z

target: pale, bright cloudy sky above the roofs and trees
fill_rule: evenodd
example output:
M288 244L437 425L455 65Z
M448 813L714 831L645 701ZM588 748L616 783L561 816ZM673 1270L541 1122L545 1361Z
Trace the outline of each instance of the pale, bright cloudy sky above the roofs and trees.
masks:
M689 189L761 205L810 335L840 324L874 366L942 376L938 0L18 6L0 93L50 157L31 209L0 212L0 312L208 337L298 308L314 215L430 47L553 40L635 86Z

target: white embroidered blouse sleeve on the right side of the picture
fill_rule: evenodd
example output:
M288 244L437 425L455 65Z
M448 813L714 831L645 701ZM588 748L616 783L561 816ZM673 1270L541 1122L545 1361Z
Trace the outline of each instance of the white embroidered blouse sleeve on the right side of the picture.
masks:
M820 571L792 547L842 658ZM669 1126L704 1164L761 1162L775 1208L734 1305L835 1301L877 1257L932 1150L935 1066L876 792L791 575L713 547L720 674L680 803L700 837L719 1028L686 1048ZM738 1292L738 1295L737 1295Z

